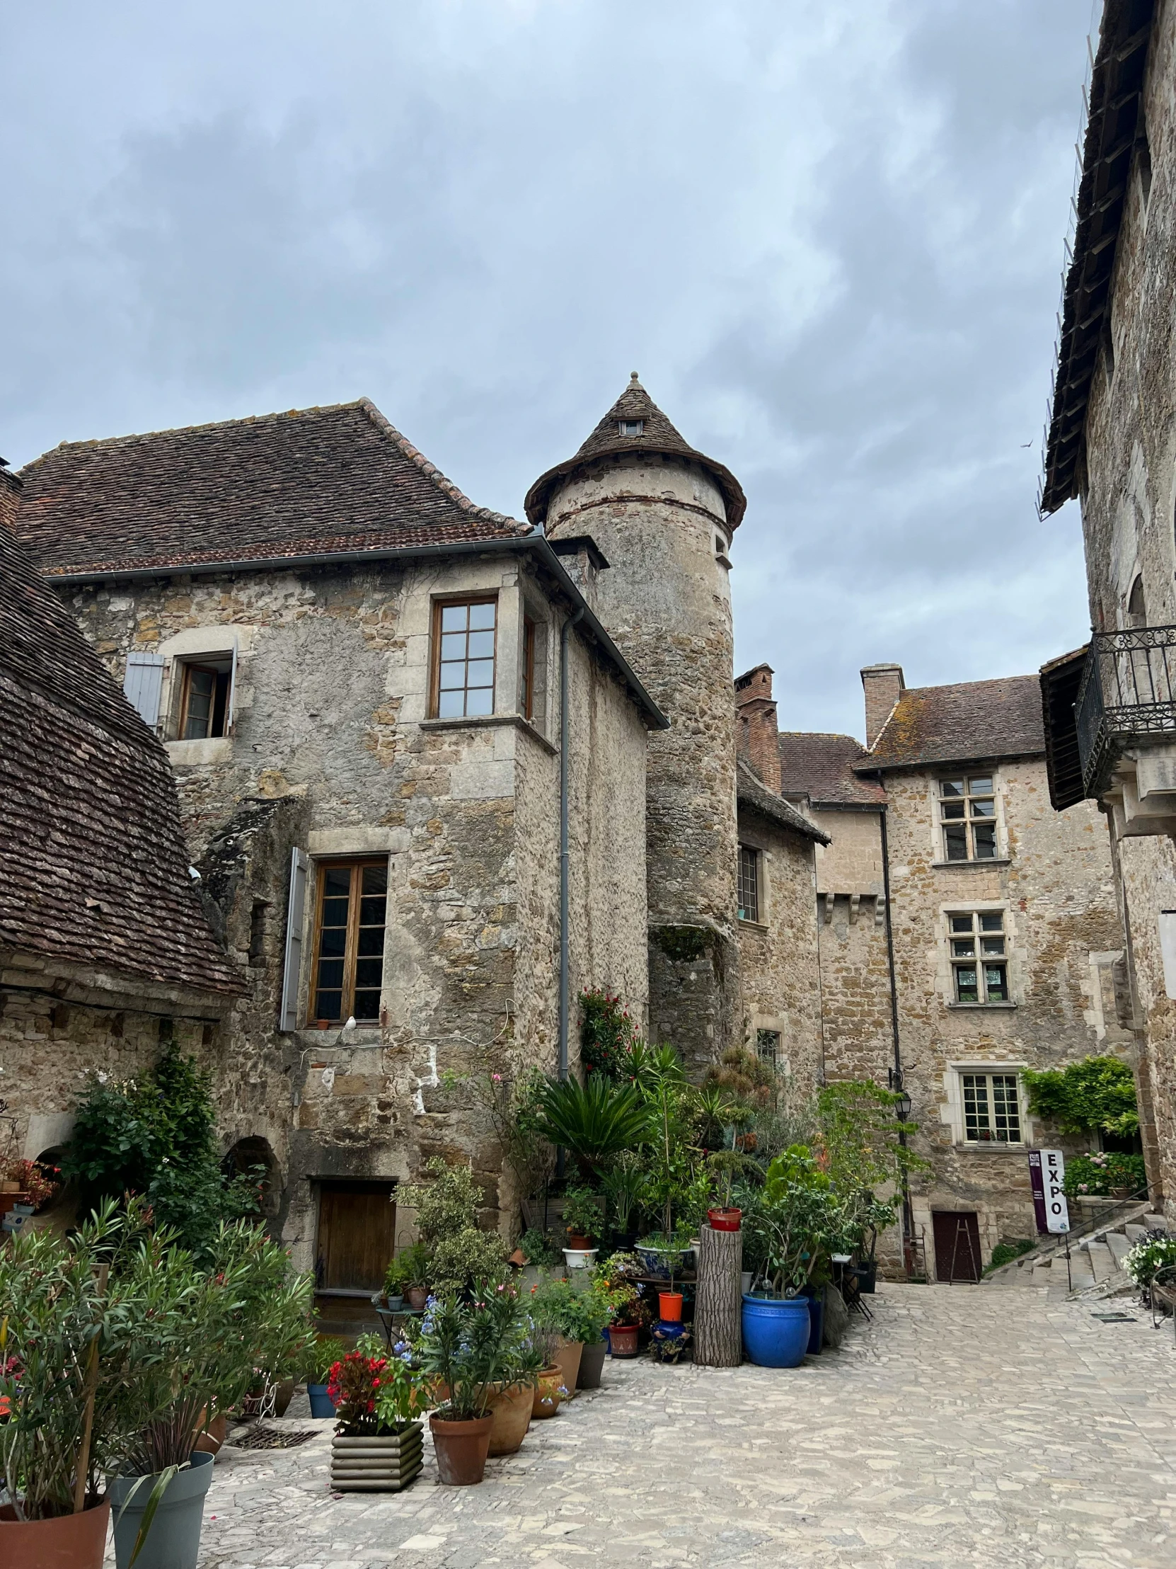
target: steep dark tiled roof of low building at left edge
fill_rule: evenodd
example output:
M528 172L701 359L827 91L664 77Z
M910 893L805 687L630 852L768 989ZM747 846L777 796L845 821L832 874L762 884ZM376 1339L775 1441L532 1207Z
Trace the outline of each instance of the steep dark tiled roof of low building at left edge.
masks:
M16 483L0 474L0 502ZM0 946L237 992L188 874L168 756L0 505Z

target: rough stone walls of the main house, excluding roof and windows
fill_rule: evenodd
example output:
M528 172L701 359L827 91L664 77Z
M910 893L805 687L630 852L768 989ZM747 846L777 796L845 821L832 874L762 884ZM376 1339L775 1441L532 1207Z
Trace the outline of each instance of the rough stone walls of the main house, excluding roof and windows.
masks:
M431 720L433 598L481 592L499 599L495 714ZM519 717L524 607L541 623L533 723ZM234 734L168 745L229 948L254 949L220 1081L224 1136L273 1145L298 1260L312 1261L312 1178L400 1180L430 1155L470 1158L486 1221L510 1224L500 1152L463 1078L555 1062L558 604L517 557L488 552L86 588L74 609L118 679L132 648L190 656L235 639ZM644 725L582 637L569 645L574 985L622 990L644 1017ZM168 683L162 712L174 723ZM276 1028L295 846L314 865L389 857L379 1026L304 1028L312 877L303 1028Z

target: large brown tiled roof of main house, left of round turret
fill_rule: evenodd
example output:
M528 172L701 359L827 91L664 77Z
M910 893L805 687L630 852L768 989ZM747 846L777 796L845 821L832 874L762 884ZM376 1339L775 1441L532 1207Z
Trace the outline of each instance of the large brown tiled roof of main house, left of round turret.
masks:
M367 399L67 441L20 477L17 527L50 576L527 532L475 507Z

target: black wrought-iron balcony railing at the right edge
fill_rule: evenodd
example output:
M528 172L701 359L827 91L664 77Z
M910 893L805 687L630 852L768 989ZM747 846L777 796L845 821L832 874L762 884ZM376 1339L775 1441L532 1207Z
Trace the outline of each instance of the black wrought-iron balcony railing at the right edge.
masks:
M1088 797L1107 789L1126 747L1176 741L1176 626L1094 632L1074 717Z

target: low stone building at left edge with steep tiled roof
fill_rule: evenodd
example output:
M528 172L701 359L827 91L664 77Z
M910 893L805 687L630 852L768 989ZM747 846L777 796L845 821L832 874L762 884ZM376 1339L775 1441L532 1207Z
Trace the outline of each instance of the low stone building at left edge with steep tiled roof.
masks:
M0 468L0 1158L52 1158L89 1068L226 1061L241 982L205 919L166 753L13 535Z

